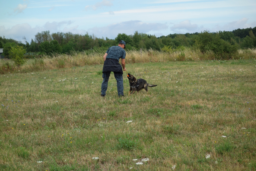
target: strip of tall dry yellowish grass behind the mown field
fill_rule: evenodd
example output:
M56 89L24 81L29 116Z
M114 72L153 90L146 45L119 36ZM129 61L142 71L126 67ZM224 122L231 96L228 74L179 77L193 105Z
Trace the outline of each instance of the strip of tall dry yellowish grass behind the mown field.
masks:
M72 54L52 54L44 55L42 58L28 59L27 63L21 67L14 65L13 61L1 60L0 74L4 73L26 73L33 71L43 71L57 68L71 68L75 66L98 65L103 64L103 55L105 51L92 52L72 52ZM256 49L240 49L236 54L229 56L228 59L238 60L240 58L248 59L256 57ZM183 51L172 53L164 51L150 50L131 50L126 51L125 62L130 63L147 63L147 62L168 62L168 61L199 61L199 60L225 60L216 57L212 51L206 53L198 49L184 48Z

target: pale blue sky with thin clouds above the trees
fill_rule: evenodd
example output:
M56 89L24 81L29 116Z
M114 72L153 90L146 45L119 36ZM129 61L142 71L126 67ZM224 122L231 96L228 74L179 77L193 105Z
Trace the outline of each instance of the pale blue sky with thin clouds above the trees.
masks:
M256 27L256 0L1 0L0 36L30 43L50 31L115 39Z

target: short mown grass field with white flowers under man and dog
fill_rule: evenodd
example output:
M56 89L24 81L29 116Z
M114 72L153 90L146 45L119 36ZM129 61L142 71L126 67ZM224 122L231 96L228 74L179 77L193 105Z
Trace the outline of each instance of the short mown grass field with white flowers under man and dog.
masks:
M255 59L102 66L0 75L0 170L256 170Z

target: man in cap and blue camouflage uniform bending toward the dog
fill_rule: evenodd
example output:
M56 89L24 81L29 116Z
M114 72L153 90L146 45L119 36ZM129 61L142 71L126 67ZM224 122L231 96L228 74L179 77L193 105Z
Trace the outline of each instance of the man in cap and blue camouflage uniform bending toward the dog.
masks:
M125 68L125 42L121 40L118 46L112 46L108 48L108 51L103 56L104 65L102 70L102 84L101 84L101 96L106 96L106 91L108 89L108 79L110 72L114 73L117 84L118 96L124 96L124 84L123 84L123 70ZM122 66L119 64L119 59L122 58Z

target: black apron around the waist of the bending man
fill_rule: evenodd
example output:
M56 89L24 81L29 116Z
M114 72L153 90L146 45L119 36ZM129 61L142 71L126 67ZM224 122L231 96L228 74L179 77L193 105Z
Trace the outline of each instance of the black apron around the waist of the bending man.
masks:
M112 58L107 58L104 61L102 73L105 72L120 72L123 74L122 66L119 64L119 61Z

